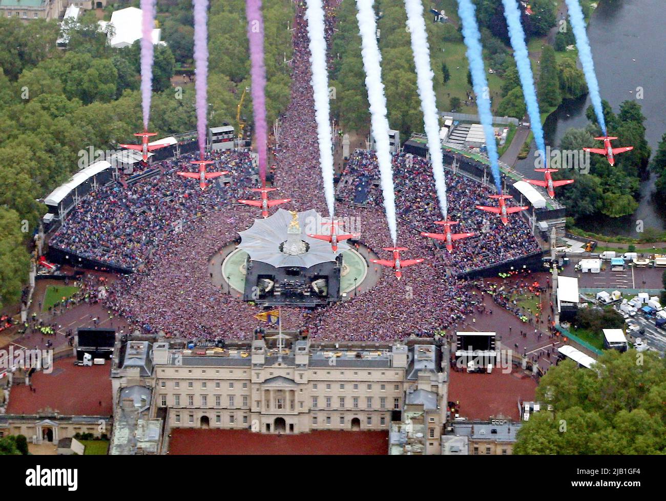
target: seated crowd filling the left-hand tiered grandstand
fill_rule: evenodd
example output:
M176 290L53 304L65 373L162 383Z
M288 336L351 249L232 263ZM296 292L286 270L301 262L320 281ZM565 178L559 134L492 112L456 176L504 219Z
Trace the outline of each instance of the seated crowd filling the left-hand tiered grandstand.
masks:
M78 256L135 270L155 243L179 231L200 213L248 195L256 169L248 151L213 151L208 169L229 171L228 186L211 183L202 191L198 182L176 175L194 171L195 155L155 163L153 177L137 183L111 183L85 197L55 233L49 245ZM136 175L137 171L132 174Z

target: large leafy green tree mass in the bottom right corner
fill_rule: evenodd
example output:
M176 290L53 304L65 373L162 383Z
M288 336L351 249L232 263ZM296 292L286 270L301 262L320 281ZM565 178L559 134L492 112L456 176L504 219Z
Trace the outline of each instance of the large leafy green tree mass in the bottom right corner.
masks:
M663 454L666 364L653 352L607 350L593 370L565 360L539 382L552 410L523 423L514 454Z

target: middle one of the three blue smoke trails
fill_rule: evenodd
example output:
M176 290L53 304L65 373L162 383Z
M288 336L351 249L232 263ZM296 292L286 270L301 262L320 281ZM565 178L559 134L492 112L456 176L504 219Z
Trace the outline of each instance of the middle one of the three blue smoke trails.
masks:
M520 23L520 11L516 0L502 0L504 4L504 17L509 27L509 37L511 38L511 47L513 47L513 59L518 69L520 85L523 87L523 96L525 105L527 105L527 115L537 150L541 153L543 167L547 167L545 159L545 142L543 141L543 127L541 127L541 113L539 113L539 103L537 102L537 91L534 87L534 76L529 61L529 53L525 44L525 32Z

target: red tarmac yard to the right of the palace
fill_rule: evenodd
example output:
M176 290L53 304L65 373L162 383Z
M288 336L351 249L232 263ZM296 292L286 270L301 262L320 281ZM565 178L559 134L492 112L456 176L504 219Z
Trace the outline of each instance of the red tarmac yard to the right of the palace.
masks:
M518 400L534 400L537 382L529 373L513 368L502 374L495 368L491 374L451 370L449 401L460 401L460 416L488 420L490 416L507 416L520 420Z

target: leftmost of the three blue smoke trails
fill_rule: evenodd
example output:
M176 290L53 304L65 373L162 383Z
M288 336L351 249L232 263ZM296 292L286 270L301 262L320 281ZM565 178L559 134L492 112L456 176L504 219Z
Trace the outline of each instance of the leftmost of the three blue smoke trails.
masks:
M479 118L481 119L481 125L484 127L484 135L486 136L490 169L495 178L495 187L498 189L498 193L501 193L498 146L495 142L493 114L490 111L490 96L488 96L490 91L488 90L488 80L486 80L483 49L481 47L481 33L479 33L479 27L476 23L476 7L474 7L472 0L458 0L458 16L462 21L462 36L467 46L467 59L470 61L472 87L476 95L476 107L479 110Z

